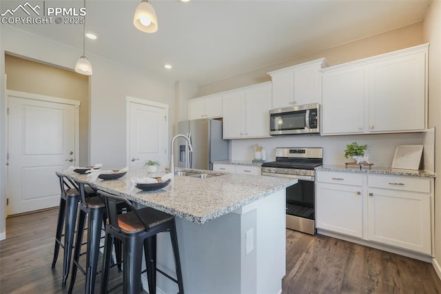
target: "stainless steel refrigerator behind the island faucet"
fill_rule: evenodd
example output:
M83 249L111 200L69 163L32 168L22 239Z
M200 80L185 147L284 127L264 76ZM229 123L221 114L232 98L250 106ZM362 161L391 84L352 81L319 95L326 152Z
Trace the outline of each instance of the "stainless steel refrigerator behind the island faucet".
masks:
M212 161L229 159L229 140L222 139L222 121L194 119L179 121L178 133L188 135L192 142L190 153L185 139L178 139L177 164L181 168L213 170Z

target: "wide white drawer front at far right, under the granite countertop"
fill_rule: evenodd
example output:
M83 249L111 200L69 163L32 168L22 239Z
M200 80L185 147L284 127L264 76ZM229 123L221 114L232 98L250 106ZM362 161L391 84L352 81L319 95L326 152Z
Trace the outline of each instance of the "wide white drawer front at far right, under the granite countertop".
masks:
M422 177L390 177L384 175L369 175L369 188L383 188L420 193L430 193L430 179Z

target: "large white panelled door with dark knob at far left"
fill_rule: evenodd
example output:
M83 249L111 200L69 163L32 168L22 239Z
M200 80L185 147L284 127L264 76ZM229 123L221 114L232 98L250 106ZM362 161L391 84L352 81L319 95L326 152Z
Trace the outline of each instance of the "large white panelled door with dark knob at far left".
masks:
M8 91L8 215L59 205L55 171L75 165L78 106Z

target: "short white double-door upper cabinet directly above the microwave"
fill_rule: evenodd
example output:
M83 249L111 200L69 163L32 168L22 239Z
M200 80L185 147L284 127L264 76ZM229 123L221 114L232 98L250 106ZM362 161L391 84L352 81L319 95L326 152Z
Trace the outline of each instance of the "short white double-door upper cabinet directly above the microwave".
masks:
M272 108L320 103L320 69L327 67L321 58L268 72L272 82Z

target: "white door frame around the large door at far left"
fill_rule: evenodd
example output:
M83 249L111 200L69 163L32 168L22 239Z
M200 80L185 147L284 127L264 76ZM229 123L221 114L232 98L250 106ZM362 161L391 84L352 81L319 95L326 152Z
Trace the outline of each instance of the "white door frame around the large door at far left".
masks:
M20 91L16 91L16 90L6 90L6 110L9 111L9 99L10 96L13 97L19 97L19 98L24 98L24 99L32 99L32 100L39 100L39 101L45 101L45 102L52 102L52 103L57 103L57 104L67 104L67 105L72 105L74 106L75 109L75 118L74 118L74 124L75 124L75 144L74 144L74 154L75 154L75 164L77 162L79 162L79 130L80 130L80 126L79 126L79 117L80 117L80 112L79 112L79 107L81 105L81 102L78 100L72 100L72 99L64 99L64 98L59 98L59 97L52 97L52 96L47 96L47 95L39 95L39 94L34 94L34 93L29 93L29 92L20 92ZM13 98L12 98L13 99ZM7 115L6 118L6 153L9 153L10 148L13 148L13 146L9 146L9 131L10 131L10 125L9 125L9 117ZM9 168L8 168L8 158L6 158L6 186L8 185L8 177L9 177ZM6 191L5 191L6 192ZM5 197L6 199L8 198L8 195L6 195ZM6 199L5 199L5 204L6 204ZM5 205L5 220L6 217L9 215L9 210L8 210L8 206Z

